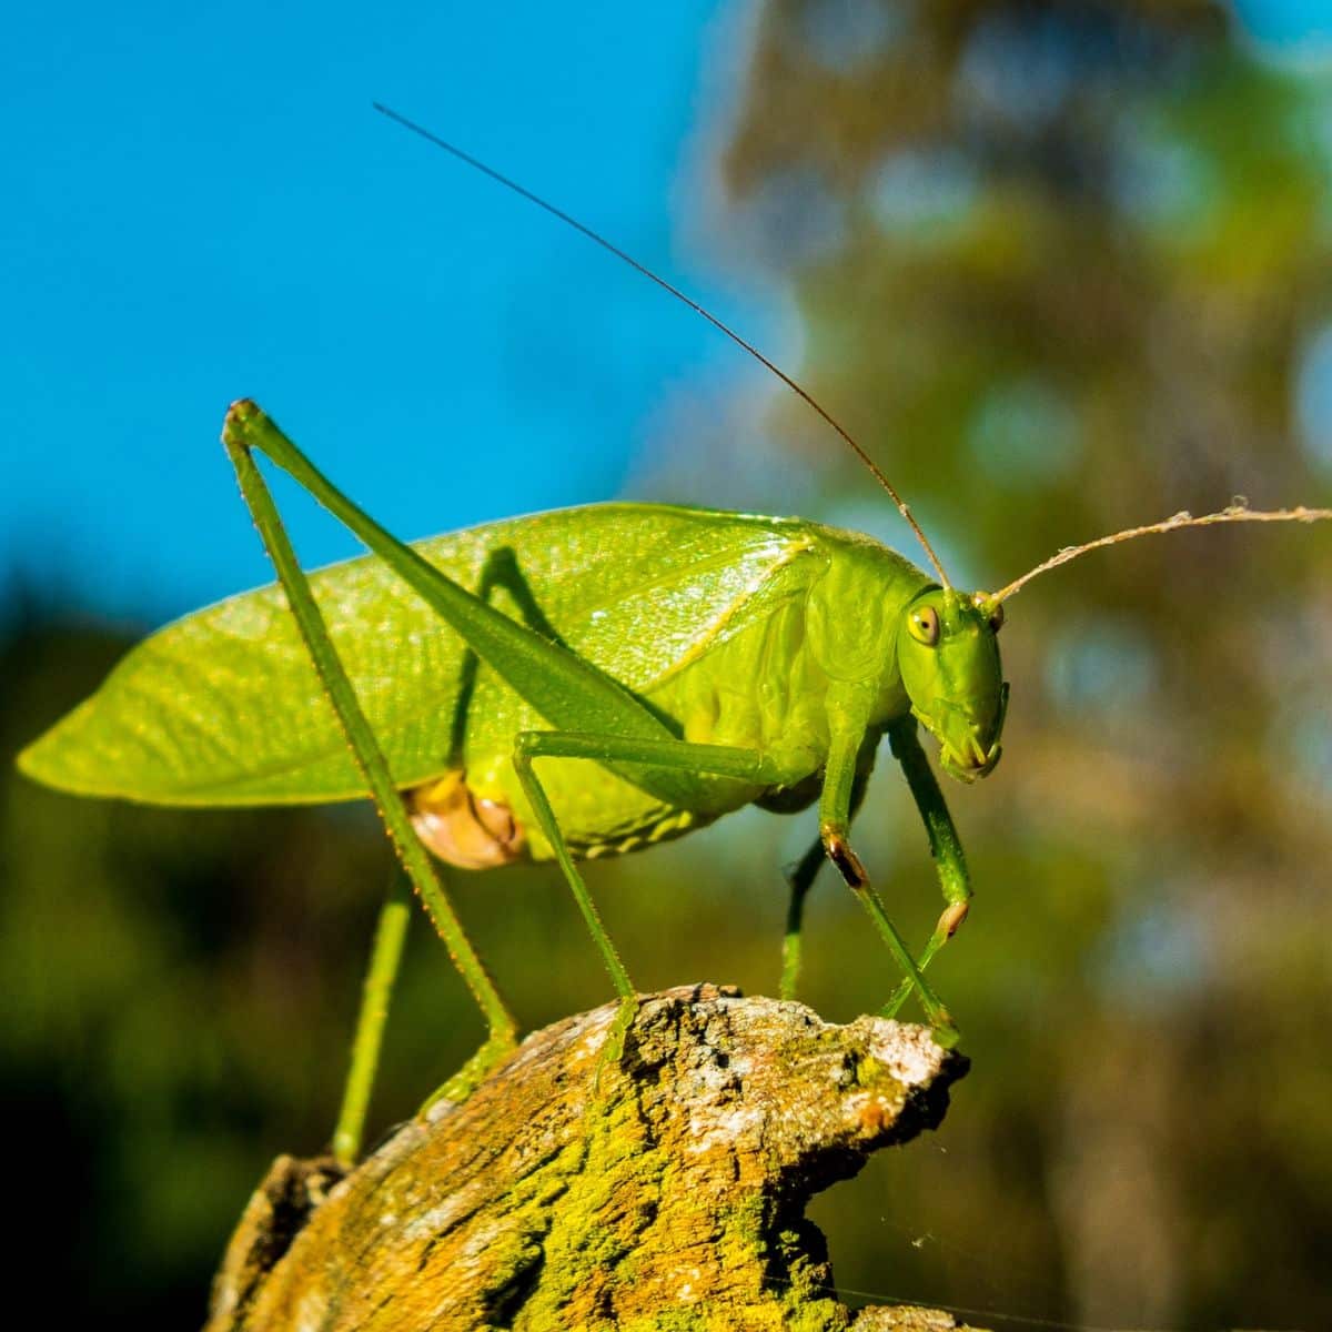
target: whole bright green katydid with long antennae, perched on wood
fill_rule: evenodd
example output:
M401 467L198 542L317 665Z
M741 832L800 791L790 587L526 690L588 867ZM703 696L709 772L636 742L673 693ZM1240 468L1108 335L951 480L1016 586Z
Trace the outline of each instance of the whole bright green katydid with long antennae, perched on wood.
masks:
M964 919L971 884L918 727L938 741L951 777L994 769L1008 697L996 638L1007 598L1103 545L1211 523L1312 522L1332 510L1176 514L1068 547L996 593L959 591L887 478L781 369L601 236L425 136L569 221L757 356L866 462L932 571L868 537L799 518L647 503L514 518L406 546L242 401L228 413L224 442L280 583L147 639L20 755L21 767L69 791L161 805L372 795L489 1026L449 1086L456 1095L503 1056L517 1024L425 847L473 870L558 862L621 999L614 1042L631 1020L634 987L577 862L651 846L751 803L779 813L818 805L818 840L790 875L782 994L795 991L803 899L827 858L903 972L883 1011L895 1014L915 992L939 1039L955 1039L923 971ZM302 573L254 452L370 554ZM918 956L850 844L884 735L944 899ZM401 910L392 902L381 923L334 1139L344 1160L358 1150Z

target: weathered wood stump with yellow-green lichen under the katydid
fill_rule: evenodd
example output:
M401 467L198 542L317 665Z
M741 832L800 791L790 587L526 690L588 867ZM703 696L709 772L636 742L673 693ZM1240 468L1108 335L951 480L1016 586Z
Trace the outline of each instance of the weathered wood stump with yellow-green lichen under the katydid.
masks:
M643 999L614 1060L614 1014L529 1036L345 1179L282 1158L232 1240L208 1332L952 1325L850 1313L805 1205L938 1124L960 1055L920 1027L835 1027L701 986Z

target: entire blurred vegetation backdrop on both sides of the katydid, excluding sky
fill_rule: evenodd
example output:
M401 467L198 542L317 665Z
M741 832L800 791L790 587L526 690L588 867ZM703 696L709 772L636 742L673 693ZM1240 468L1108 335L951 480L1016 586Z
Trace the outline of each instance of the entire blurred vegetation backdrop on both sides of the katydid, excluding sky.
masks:
M1257 59L1204 0L769 0L749 40L718 144L727 242L791 284L794 369L955 577L994 586L1237 494L1328 503L1317 71ZM908 550L798 404L766 400L759 464L751 438L690 424L638 497L707 501L734 456L755 507ZM3 607L8 755L132 637L17 579ZM1006 758L947 789L978 900L936 983L975 1067L938 1135L821 1200L839 1280L991 1323L1325 1327L1332 525L1088 557L1011 603L1003 649ZM12 1195L68 1321L188 1327L270 1158L326 1142L388 851L364 810L180 814L0 782ZM639 986L773 992L779 868L810 832L745 814L598 864ZM939 903L887 754L858 844L923 939ZM607 998L554 872L452 887L527 1026ZM831 880L807 954L831 1019L890 984ZM377 1128L480 1034L418 920Z

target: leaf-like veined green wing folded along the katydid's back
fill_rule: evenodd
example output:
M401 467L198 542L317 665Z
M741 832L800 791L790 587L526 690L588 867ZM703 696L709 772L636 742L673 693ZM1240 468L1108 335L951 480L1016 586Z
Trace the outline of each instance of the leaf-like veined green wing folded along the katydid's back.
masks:
M417 549L469 589L490 570L502 610L642 691L762 614L778 585L789 595L793 562L819 530L794 518L610 503L489 523ZM412 786L441 773L465 677L462 641L377 559L333 565L310 582L394 779ZM19 766L79 794L161 805L364 793L276 585L147 638Z

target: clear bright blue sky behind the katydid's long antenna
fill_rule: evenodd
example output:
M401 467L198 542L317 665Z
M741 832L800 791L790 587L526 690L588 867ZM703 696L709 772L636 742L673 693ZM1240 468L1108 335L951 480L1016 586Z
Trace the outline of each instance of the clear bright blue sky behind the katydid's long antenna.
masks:
M1240 8L1280 45L1321 12ZM619 493L678 386L754 382L753 368L370 101L790 356L779 293L739 290L682 241L745 11L233 0L141 3L133 24L92 4L13 15L0 573L147 621L266 581L217 444L242 394L402 535ZM309 505L290 511L306 563L356 549Z

